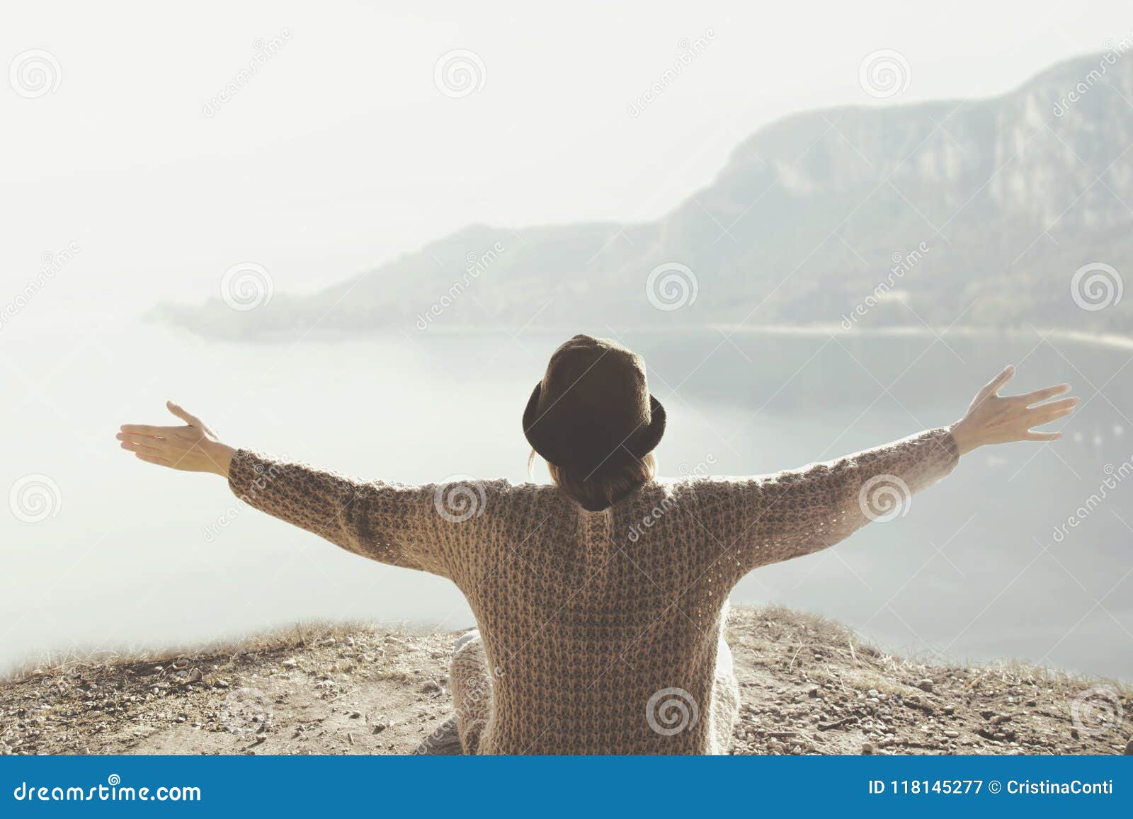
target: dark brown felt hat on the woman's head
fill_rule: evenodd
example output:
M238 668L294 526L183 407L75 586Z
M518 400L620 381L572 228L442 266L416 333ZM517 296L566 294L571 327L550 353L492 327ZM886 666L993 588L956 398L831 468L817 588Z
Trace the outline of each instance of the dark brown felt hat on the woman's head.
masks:
M586 477L651 452L665 408L646 385L645 361L616 341L576 335L551 356L523 410L531 447Z

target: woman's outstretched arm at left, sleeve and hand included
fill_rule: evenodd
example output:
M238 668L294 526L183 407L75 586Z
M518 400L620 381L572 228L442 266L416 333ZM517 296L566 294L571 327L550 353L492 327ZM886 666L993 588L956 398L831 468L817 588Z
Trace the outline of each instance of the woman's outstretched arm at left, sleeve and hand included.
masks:
M168 408L184 426L126 424L122 449L147 463L223 476L245 503L349 552L449 577L445 544L463 530L437 513L435 486L364 483L238 450L178 404Z

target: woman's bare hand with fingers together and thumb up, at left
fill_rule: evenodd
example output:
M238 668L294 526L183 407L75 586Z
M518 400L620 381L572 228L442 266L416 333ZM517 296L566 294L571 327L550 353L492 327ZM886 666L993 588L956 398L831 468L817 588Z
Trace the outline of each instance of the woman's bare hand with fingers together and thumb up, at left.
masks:
M146 424L123 424L116 436L122 442L122 449L146 463L189 472L214 472L227 478L236 450L221 443L207 424L179 404L167 401L165 407L185 425L153 427Z

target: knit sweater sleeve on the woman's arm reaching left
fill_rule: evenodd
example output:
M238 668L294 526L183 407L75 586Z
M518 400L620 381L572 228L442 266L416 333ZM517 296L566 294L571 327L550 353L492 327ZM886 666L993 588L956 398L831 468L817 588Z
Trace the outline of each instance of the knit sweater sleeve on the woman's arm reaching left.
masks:
M446 510L436 501L437 485L364 483L248 450L233 455L228 480L245 503L348 552L445 578L451 577L448 547L475 529L462 527L459 514L442 514ZM476 496L479 486L468 487L463 501L471 506L463 512L470 509L475 514L477 503L483 512L483 489Z

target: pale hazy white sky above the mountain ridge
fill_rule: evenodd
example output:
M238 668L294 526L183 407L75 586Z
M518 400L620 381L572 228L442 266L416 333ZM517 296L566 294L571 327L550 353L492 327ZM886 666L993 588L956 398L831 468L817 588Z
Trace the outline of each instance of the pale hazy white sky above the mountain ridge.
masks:
M42 49L59 74L35 99L0 84L0 288L70 241L69 284L35 321L198 301L246 259L279 290L310 290L471 222L650 219L791 111L999 94L1133 31L1119 0L385 6L6 8L3 65ZM278 52L206 116L272 37ZM879 49L910 67L884 101L859 84ZM453 50L483 65L461 97L434 76Z

